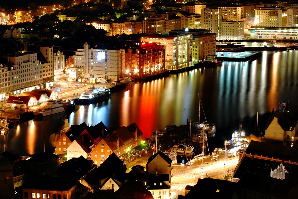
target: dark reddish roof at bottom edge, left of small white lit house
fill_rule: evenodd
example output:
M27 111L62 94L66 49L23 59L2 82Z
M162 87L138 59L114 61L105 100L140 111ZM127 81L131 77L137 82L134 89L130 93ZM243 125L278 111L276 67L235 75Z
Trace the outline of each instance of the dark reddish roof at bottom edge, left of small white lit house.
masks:
M133 187L133 188L132 188ZM117 198L125 199L153 199L150 191L144 187L144 185L139 181L128 181L122 187L120 187L116 192Z

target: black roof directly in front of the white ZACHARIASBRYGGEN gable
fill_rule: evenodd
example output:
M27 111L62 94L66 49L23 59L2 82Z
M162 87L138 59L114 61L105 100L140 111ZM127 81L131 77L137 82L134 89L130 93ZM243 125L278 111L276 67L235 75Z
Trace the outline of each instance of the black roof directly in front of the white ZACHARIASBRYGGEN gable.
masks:
M80 156L78 158L72 158L60 164L52 175L58 177L61 175L63 176L64 173L69 173L76 180L79 180L83 176L86 176L95 167L96 166L93 165L93 160L86 159L83 156Z

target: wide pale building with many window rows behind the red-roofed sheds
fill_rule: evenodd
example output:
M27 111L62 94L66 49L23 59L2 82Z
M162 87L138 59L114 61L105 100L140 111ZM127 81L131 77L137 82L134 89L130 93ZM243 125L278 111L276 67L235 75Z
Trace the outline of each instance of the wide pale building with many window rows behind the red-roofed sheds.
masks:
M37 52L25 52L7 57L14 70L11 70L10 90L19 94L43 88L42 65Z

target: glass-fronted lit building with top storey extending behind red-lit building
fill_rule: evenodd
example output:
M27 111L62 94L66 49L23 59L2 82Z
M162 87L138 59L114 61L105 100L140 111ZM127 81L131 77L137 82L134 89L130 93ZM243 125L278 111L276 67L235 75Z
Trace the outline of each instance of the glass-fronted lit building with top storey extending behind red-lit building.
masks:
M178 70L189 67L192 63L193 35L184 33L143 34L141 42L154 42L165 46L166 70Z

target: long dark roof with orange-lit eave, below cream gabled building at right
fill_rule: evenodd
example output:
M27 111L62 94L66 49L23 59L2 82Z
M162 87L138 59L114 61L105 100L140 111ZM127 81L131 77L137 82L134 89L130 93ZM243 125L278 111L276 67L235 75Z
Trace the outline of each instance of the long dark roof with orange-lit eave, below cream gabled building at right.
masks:
M290 146L281 146L252 140L246 149L246 153L251 153L252 155L257 154L258 156L262 155L263 157L268 156L268 158L273 157L275 159L279 158L298 162L298 149Z

